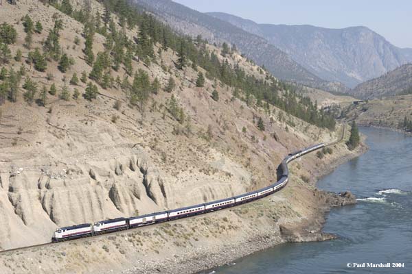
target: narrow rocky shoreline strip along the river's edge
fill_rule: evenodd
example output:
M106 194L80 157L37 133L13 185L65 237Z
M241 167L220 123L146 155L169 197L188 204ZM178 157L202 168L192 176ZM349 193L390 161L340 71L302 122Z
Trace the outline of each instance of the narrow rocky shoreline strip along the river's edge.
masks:
M315 169L314 179L312 184L316 184L319 178L328 175L337 166L358 157L367 151L367 146L362 144L355 153L344 155L328 164L324 164L321 168ZM123 271L122 274L136 273L210 273L212 269L225 264L231 264L234 260L249 256L252 253L262 251L274 247L285 242L312 242L332 240L337 238L333 234L322 232L323 224L325 223L325 215L331 208L347 206L356 203L356 197L351 192L343 191L339 194L334 192L325 192L314 188L313 195L321 201L317 213L313 214L310 219L302 221L298 225L279 225L278 233L274 233L273 229L268 229L265 232L256 234L250 238L245 238L244 241L235 241L231 245L212 245L201 250L201 256L194 256L192 251L188 251L183 256L177 256L174 260L166 260L161 263L150 262L150 266L146 271L142 272L141 266L135 266L132 269ZM196 252L198 253L198 252ZM207 255L205 255L207 254ZM153 265L155 263L155 265ZM147 264L147 262L141 262ZM207 270L209 269L209 270Z

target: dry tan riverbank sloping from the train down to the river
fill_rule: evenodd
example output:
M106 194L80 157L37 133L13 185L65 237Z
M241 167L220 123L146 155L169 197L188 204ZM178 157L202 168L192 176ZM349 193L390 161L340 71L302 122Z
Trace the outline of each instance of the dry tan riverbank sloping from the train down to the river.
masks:
M283 242L334 238L321 232L333 206L356 202L315 188L315 179L363 153L344 142L322 159L316 153L290 164L282 191L204 216L0 254L1 273L196 273ZM343 190L344 191L344 190ZM173 254L173 255L171 255Z

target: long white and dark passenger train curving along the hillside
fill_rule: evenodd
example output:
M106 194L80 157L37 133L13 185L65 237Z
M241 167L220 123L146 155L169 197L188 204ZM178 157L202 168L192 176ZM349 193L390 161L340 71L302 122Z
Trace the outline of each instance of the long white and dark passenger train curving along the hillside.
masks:
M247 192L235 197L229 197L217 201L210 201L207 203L200 203L194 206L187 206L185 208L176 208L174 210L155 212L142 216L132 216L130 218L122 217L117 219L98 221L94 224L84 223L82 225L60 227L56 230L56 232L54 232L54 235L52 236L52 242L62 242L65 240L91 237L110 232L118 232L121 230L133 229L136 227L146 225L153 225L155 223L162 223L190 216L196 216L199 214L214 212L216 210L222 210L225 208L231 208L233 206L239 206L243 203L250 203L251 201L262 199L263 197L266 197L268 195L273 194L274 192L281 190L282 188L284 188L284 186L286 186L286 184L288 184L289 162L301 157L302 155L305 155L317 149L321 149L323 147L325 147L325 144L321 143L288 154L281 163L282 173L280 174L280 179L277 182L264 188Z

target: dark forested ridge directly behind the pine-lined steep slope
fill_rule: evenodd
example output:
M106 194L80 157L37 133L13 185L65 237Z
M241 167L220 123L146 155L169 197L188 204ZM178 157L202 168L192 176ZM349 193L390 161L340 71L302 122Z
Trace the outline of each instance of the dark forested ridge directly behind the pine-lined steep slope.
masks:
M248 58L264 64L273 75L290 82L297 82L328 91L347 90L341 83L326 82L295 62L290 56L271 45L266 39L250 32L197 12L170 0L134 0L140 8L155 14L177 32L201 36L209 42L229 42L236 45Z

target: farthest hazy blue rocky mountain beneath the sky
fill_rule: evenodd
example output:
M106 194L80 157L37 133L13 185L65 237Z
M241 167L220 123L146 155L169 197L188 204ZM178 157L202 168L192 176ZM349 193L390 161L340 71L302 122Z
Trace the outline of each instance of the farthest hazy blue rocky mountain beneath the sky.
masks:
M367 27L270 25L221 12L207 14L265 38L315 75L350 88L412 61L412 49L395 47Z

